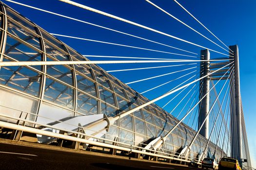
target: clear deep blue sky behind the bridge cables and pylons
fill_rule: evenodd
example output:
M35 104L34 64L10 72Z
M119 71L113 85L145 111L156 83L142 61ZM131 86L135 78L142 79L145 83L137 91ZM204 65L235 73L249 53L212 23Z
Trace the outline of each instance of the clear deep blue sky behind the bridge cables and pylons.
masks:
M176 20L165 15L144 0L75 0L76 2L88 5L90 7L102 10L104 12L123 17L142 25L155 28L168 34L192 41L194 43L225 52L212 44L211 42L200 37L198 34L189 30ZM211 34L204 30L193 18L187 15L172 0L152 0L154 3L164 8L175 17L185 21L188 25L197 29L199 32L207 35L215 40ZM84 37L89 39L97 39L120 44L128 44L133 46L143 46L144 48L152 48L156 50L179 52L166 47L156 46L152 43L136 40L128 37L105 31L100 28L88 26L76 21L53 16L43 12L39 12L26 7L4 1L23 16L28 17L40 27L50 33L65 34L71 36ZM118 29L120 31L136 34L142 37L154 39L159 42L172 44L189 51L199 52L201 48L188 45L177 40L167 38L143 29L131 26L108 17L100 16L92 12L79 9L77 7L59 2L58 0L19 0L19 2L36 6L45 10L60 13L70 17L76 17L88 22L103 25L106 27ZM241 95L243 102L243 110L245 114L247 136L249 149L253 167L256 167L256 0L179 0L195 17L197 17L206 27L216 34L225 44L235 45L239 47L240 57L240 83ZM127 48L117 48L116 46L100 45L74 39L61 38L60 40L70 45L82 54L88 55L119 55L119 56L141 56L141 57L168 57L168 54L159 54L157 52L148 52L141 50L131 50ZM213 58L220 57L220 54L211 53ZM113 66L102 66L106 70L112 69ZM128 67L123 65L122 67ZM162 70L163 71L163 70ZM164 71L163 71L164 72ZM141 75L129 76L128 73L114 74L123 82L129 82L141 78ZM143 76L142 76L143 77ZM147 76L144 76L147 77ZM154 83L154 82L151 82ZM156 83L156 82L155 82ZM142 91L147 84L132 85L137 91ZM146 95L149 99L153 99L157 93L149 93Z

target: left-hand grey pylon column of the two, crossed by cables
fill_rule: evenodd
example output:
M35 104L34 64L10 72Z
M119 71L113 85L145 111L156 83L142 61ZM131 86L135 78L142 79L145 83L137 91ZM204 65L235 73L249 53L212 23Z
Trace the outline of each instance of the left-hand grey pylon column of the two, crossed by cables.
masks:
M210 60L210 52L209 50L201 50L201 60ZM210 73L210 62L204 62L202 61L200 63L200 77L203 77ZM202 80L200 80L200 94L199 94L199 100L201 100L201 97L203 97L210 88L210 78L205 77ZM198 116L198 128L202 125L204 119L206 118L207 113L209 112L209 97L210 93L208 93L205 98L202 100L200 109L199 109L199 116ZM209 136L209 119L207 118L202 129L199 132L200 135L208 138Z

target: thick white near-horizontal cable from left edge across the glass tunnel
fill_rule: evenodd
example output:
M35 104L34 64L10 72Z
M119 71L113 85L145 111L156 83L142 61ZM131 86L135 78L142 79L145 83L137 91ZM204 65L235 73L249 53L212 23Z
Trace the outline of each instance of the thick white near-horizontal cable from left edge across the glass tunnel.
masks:
M3 61L1 66L48 66L48 65L72 65L72 64L127 64L127 63L179 63L201 62L213 60L115 60L115 61ZM219 61L219 60L217 60Z

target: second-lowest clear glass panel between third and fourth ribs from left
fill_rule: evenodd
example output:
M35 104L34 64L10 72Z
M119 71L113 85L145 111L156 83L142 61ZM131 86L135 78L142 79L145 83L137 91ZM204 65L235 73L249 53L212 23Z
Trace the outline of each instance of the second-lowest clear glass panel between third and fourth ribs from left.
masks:
M96 95L96 89L95 89L95 84L88 80L87 78L77 74L77 84L78 84L78 89L81 91L84 91L94 97L97 97Z

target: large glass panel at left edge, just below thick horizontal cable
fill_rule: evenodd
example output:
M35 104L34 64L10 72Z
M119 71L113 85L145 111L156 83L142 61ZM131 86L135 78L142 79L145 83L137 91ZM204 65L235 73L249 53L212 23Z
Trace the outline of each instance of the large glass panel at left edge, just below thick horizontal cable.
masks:
M4 59L3 61L8 61ZM25 67L2 67L0 84L8 85L25 93L39 97L41 74Z

